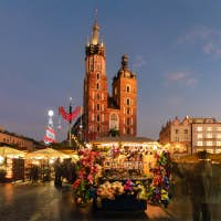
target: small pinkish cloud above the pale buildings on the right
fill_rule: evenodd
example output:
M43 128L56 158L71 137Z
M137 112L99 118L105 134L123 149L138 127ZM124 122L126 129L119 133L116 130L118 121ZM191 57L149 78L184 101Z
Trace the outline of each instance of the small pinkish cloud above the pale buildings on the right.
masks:
M167 82L169 83L180 83L186 86L196 85L197 78L192 76L190 72L175 72L166 75Z

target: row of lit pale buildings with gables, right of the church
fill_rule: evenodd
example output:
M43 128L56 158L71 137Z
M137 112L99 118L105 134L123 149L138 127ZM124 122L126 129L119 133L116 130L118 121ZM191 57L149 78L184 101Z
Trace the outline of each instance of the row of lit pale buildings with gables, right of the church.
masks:
M173 152L194 154L207 150L221 152L221 123L214 118L176 117L167 122L159 133L159 143L170 145Z

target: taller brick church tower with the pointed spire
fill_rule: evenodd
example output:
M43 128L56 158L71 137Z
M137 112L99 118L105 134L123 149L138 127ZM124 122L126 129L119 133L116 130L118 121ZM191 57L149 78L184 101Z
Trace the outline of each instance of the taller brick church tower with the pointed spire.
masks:
M103 40L99 40L97 15L91 41L85 45L84 77L84 134L87 139L104 136L107 131L107 76L106 54Z

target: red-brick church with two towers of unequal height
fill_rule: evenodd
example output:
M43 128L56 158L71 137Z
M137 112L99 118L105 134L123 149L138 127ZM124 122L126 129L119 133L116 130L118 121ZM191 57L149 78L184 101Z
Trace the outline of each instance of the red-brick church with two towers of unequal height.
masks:
M122 56L122 66L113 77L112 95L106 74L106 48L99 40L95 19L91 41L85 46L85 76L83 98L83 133L87 140L115 134L137 134L137 78L128 69L128 57Z

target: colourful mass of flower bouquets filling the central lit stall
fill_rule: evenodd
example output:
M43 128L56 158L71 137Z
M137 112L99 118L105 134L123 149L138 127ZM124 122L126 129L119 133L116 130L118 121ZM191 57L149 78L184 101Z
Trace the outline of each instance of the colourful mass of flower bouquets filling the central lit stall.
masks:
M115 154L118 155L118 150ZM119 158L120 155L118 158L109 159L107 154L105 157L101 151L84 149L78 152L78 156L77 178L73 183L75 202L78 206L87 204L92 199L97 208L108 207L110 201L115 204L117 200L124 203L130 200L129 202L136 206L141 203L139 204L141 208L145 208L147 201L168 206L171 180L169 152L156 152L156 164L149 177L141 172L139 176L137 173L134 176L131 171L140 170L139 167L135 167L136 160L128 161L127 158ZM123 168L122 164L125 162L127 167ZM116 167L117 164L120 167Z

